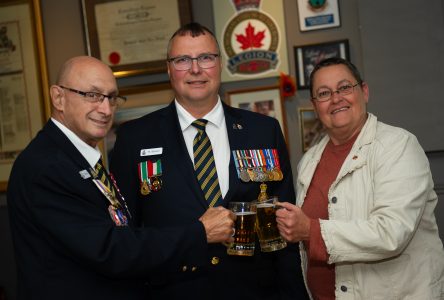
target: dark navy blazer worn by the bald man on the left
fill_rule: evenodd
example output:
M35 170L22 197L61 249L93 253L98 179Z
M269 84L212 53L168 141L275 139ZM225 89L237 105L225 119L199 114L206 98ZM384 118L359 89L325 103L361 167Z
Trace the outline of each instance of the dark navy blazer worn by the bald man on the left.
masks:
M88 169L52 121L15 161L7 201L18 299L146 299L142 278L205 255L200 222L163 230L116 226L108 200L79 173Z

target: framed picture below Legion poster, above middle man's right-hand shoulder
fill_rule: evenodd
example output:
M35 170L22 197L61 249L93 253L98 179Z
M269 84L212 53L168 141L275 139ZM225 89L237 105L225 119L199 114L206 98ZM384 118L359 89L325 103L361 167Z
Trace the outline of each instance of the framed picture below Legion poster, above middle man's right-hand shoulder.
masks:
M287 139L285 110L279 85L228 91L225 101L233 107L276 118L281 125L285 139Z

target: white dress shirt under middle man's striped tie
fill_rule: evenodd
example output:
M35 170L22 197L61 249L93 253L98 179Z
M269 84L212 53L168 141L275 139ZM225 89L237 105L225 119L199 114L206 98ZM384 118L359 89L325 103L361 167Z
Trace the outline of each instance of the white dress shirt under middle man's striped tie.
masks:
M197 134L197 129L191 123L197 119L187 112L177 100L174 102L188 154L194 164L193 140ZM222 197L225 197L229 188L230 143L228 142L227 125L220 97L217 99L216 106L202 119L208 120L205 131L213 148L214 162Z

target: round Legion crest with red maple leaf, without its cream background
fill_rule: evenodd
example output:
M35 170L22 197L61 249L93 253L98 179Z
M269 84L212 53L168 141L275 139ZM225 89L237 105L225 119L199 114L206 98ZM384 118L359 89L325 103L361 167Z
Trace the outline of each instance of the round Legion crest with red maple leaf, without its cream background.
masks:
M279 26L261 10L261 0L231 2L235 13L222 32L226 72L244 78L276 72L281 63Z

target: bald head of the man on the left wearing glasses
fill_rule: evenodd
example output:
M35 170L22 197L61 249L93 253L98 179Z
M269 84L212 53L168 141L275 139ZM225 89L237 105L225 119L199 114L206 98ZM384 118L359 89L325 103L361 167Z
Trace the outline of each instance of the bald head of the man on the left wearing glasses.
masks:
M83 141L94 147L106 135L116 107L108 99L93 102L89 95L118 95L109 66L94 57L73 57L62 65L50 93L51 116Z

